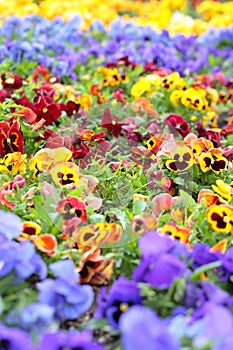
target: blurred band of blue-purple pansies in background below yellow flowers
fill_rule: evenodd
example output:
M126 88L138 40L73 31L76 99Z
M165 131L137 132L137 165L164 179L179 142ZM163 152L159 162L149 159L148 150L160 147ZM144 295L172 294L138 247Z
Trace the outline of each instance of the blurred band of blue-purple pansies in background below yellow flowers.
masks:
M160 12L159 16L162 18ZM229 74L232 29L232 26L212 28L200 36L185 36L183 30L175 35L167 30L156 32L121 17L107 28L101 21L93 21L90 29L85 30L78 15L66 22L61 17L50 21L35 14L12 16L0 28L0 72L14 69L22 74L41 64L52 69L53 74L65 76L66 82L77 78L83 81L90 80L89 69L96 70L101 64L112 64L128 56L134 64L147 64L145 69L149 71L156 65L181 75L206 73L210 69L213 72L222 69ZM212 44L206 45L207 42ZM98 59L94 65L93 58Z

